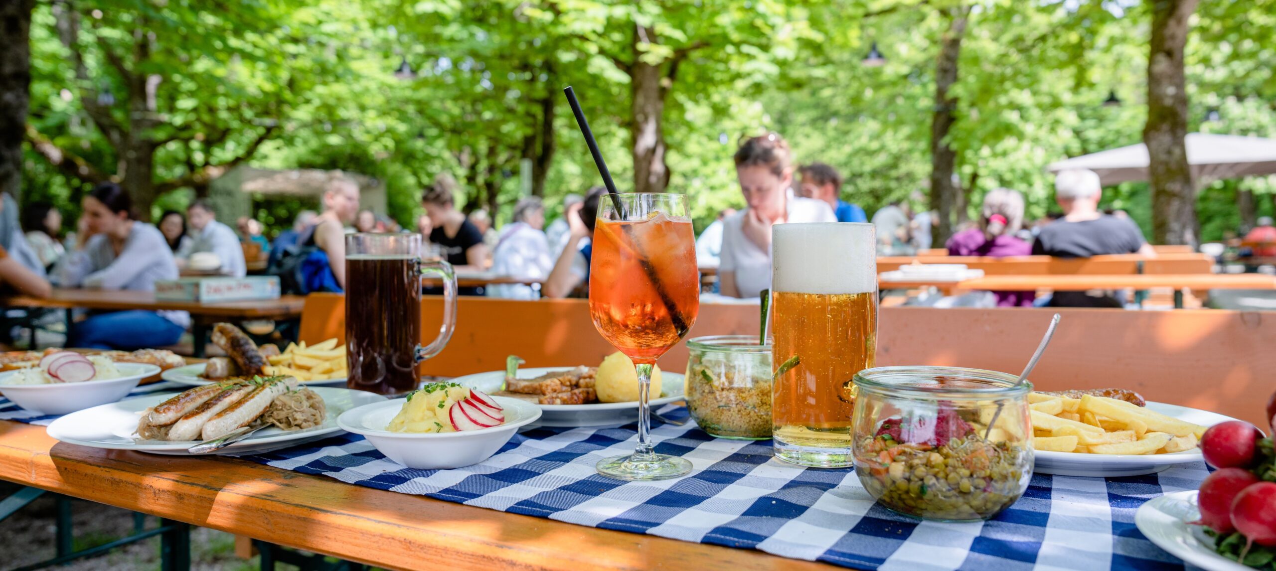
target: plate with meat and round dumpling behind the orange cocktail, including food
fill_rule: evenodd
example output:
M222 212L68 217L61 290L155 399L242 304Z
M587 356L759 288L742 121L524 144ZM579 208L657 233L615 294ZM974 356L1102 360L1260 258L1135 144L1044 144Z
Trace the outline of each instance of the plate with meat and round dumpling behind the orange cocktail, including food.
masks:
M619 354L619 353L618 353ZM615 359L616 354L607 357L607 359ZM581 386L582 380L593 380L600 368L606 373L607 368L615 368L623 371L628 368L629 373L633 373L633 368L629 359L620 361L620 365L609 365L607 361L600 367L586 367L586 366L568 366L568 367L530 367L519 368L517 372L517 380L521 384L507 384L507 389L519 389L530 390L531 393L519 393L517 390L501 390L501 385L505 384L505 371L490 371L480 372L475 375L466 375L463 377L453 379L453 382L468 389L478 389L494 396L505 396L513 399L522 399L532 403L541 409L541 418L536 422L537 426L604 426L604 424L623 424L627 422L633 422L638 419L638 401L625 400L619 403L600 403L597 401L597 395L593 399L581 399L581 394L591 393L590 389L596 389L590 382ZM655 375L653 375L655 377ZM633 381L637 384L637 377ZM554 385L555 381L558 386L567 390L551 391L549 389L541 389L546 385ZM519 386L521 385L521 386ZM549 390L546 393L536 393L536 390ZM597 390L593 390L596 394ZM634 394L637 390L634 389ZM555 396L560 395L560 396ZM637 396L635 396L637 398ZM581 404L547 404L547 401L554 400L592 400ZM661 391L660 398L651 399L651 407L655 412L656 408L683 400L683 375L676 372L661 371Z

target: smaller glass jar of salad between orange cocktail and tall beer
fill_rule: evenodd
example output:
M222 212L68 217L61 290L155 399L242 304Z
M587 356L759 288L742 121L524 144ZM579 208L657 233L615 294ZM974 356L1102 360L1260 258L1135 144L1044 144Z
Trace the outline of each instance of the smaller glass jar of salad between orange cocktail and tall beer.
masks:
M699 336L686 342L686 408L712 436L771 437L771 343L755 335Z

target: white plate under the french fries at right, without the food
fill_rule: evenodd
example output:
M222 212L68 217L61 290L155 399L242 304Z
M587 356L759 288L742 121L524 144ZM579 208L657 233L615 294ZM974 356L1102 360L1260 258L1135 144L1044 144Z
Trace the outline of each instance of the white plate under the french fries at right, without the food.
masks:
M1194 408L1179 407L1165 403L1147 403L1147 409L1174 418L1182 418L1201 426L1213 426L1235 418L1211 413ZM1113 478L1120 475L1152 474L1169 469L1175 464L1191 464L1203 461L1201 449L1185 450L1174 454L1118 455L1118 454L1074 454L1074 452L1036 452L1036 468L1034 472L1058 475L1083 475Z

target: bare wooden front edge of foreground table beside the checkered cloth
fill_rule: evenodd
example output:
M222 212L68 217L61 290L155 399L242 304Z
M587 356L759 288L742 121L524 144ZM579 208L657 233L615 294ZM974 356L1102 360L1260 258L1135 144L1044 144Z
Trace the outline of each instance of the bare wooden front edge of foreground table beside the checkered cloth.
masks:
M351 486L228 456L59 444L45 427L14 421L0 421L0 478L388 568L829 568Z

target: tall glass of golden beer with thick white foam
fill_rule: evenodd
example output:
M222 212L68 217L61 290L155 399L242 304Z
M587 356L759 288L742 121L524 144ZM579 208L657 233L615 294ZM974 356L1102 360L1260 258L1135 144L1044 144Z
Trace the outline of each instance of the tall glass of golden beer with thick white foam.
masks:
M776 224L771 240L772 385L776 458L852 465L855 373L877 349L873 224Z

